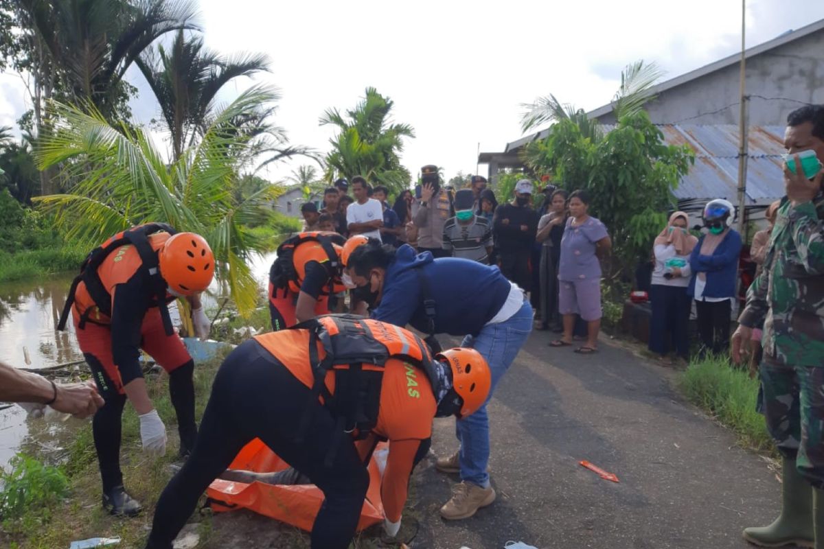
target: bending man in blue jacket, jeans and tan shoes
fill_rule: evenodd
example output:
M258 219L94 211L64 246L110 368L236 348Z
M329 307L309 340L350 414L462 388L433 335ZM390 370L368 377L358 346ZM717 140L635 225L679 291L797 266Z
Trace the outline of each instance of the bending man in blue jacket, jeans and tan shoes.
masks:
M492 371L489 398L515 360L532 329L532 308L523 291L497 267L461 258L416 254L404 244L395 250L370 239L355 249L347 272L353 296L372 309L372 318L419 332L464 336L463 347L480 352ZM489 398L487 402L489 402ZM456 421L461 448L439 458L442 472L460 472L461 483L441 508L444 519L467 519L495 500L489 484L489 416L486 403Z

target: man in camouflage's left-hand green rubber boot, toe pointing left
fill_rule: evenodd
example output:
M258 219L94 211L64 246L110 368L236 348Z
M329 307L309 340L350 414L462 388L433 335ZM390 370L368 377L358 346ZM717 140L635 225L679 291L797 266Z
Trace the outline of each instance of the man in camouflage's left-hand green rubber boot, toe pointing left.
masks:
M795 460L784 458L781 463L781 514L770 526L744 528L744 539L760 547L824 548L814 542L812 523L812 486L798 473ZM824 517L824 495L822 495L822 517ZM822 522L824 532L824 522Z

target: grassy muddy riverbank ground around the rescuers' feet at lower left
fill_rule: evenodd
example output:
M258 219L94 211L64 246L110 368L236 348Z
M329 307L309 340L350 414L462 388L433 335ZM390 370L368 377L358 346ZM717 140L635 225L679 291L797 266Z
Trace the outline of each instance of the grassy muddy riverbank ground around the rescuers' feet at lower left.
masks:
M223 353L223 356L228 351ZM200 362L194 371L198 421L203 415L211 392L214 375L222 357ZM43 432L34 435L24 446L24 452L41 463L56 466L68 481L65 500L47 505L48 499L26 509L20 519L7 519L0 528L0 547L16 549L53 549L68 547L70 542L89 537L121 537L118 547L140 549L151 528L155 505L166 483L171 478L172 465L178 462L176 416L168 394L165 374L147 376L147 388L166 424L169 436L166 456L151 458L140 447L139 421L132 407L127 406L123 421L123 445L121 464L124 483L137 500L143 504L143 514L133 519L116 519L101 508L100 473L98 472L94 443L91 437L91 421L81 426L68 426L68 440L53 439L54 430L41 426ZM70 420L75 422L75 420ZM24 482L26 482L24 480ZM204 504L204 499L200 505ZM414 509L407 509L414 516ZM196 533L199 549L241 547L236 545L238 536L243 537L245 547L269 547L260 542L278 539L278 547L309 547L309 537L296 528L263 517L253 517L250 512L230 514L195 513L191 519L196 525L187 531ZM239 523L255 523L255 527L238 529ZM370 528L353 544L354 549L393 547L379 545L380 528Z

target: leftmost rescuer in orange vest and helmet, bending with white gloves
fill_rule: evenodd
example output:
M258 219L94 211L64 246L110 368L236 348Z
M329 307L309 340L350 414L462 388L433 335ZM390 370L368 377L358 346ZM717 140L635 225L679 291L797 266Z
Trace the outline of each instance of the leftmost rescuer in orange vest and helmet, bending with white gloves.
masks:
M111 514L133 516L142 508L126 493L120 471L121 417L128 399L140 418L143 449L166 453L166 426L149 399L140 351L169 374L169 393L180 432L180 454L194 448L194 361L171 326L167 303L184 297L192 308L197 335L208 336L200 303L214 275L206 240L152 223L133 227L94 249L75 278L61 315L69 311L77 342L105 404L92 421L103 482L103 506Z

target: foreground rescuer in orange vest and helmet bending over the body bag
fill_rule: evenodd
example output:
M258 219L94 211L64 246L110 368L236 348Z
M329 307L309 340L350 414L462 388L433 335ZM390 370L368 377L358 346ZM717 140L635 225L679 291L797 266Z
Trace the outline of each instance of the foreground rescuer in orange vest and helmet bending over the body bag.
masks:
M255 438L323 491L313 549L349 547L369 484L366 463L377 440L389 440L381 495L384 529L395 537L433 418L469 416L490 383L477 351L432 358L413 333L354 315L255 336L218 370L198 443L157 502L147 549L171 549L206 487Z

